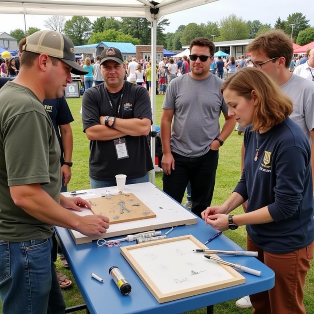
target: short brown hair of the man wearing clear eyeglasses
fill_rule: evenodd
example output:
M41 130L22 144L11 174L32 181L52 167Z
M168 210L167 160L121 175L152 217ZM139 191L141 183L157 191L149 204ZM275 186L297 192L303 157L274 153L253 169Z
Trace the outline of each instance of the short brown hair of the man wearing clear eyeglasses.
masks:
M282 30L271 30L259 35L246 47L246 51L249 53L264 51L269 59L284 57L286 68L289 68L293 57L292 41Z

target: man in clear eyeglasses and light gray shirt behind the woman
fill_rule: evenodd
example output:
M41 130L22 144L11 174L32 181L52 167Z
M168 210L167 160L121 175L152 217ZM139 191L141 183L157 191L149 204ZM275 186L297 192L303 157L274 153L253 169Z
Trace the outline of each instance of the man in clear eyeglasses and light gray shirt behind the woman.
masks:
M294 73L289 71L293 57L291 39L282 30L272 30L258 36L246 47L246 51L252 55L253 66L273 78L284 94L292 99L293 112L290 118L302 128L310 142L314 178L314 86L311 81L296 75L295 71ZM243 145L241 155L243 165ZM246 209L245 204L243 208ZM249 296L238 300L236 306L239 308L252 306Z

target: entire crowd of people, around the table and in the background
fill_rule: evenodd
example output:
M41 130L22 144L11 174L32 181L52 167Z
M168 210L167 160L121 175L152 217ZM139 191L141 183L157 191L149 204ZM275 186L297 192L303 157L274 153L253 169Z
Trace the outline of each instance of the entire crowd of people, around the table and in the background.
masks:
M234 232L246 226L247 249L258 251L258 259L274 270L275 286L238 300L238 307L253 306L255 314L305 314L303 287L314 249L314 49L293 73L292 42L280 30L252 41L250 60L215 60L214 52L214 43L200 37L182 60L126 64L121 51L109 47L94 64L90 58L79 64L72 41L58 32L39 31L19 43L19 73L0 90L3 314L25 308L64 313L60 288L70 282L56 273L53 226L91 236L109 228L102 215L68 210L90 208L88 202L60 194L71 179L73 117L60 108L64 103L52 100L64 99L71 73L81 76L91 188L114 186L118 173L127 175L126 184L148 182L152 71L165 95L163 190L181 203L189 184L191 210L206 224ZM11 73L17 69L13 61L10 67ZM244 129L241 179L222 205L211 206L219 150L236 122ZM230 214L240 205L243 214Z

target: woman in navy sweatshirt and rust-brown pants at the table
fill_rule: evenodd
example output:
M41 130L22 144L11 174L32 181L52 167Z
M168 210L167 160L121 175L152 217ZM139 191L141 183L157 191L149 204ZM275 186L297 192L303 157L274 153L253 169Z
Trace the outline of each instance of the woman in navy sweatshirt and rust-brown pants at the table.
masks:
M247 250L275 272L275 286L250 295L255 314L305 313L303 286L314 249L311 150L289 115L292 101L257 68L243 68L221 86L232 116L246 127L244 170L206 224L224 231L246 225ZM246 213L229 213L248 200Z

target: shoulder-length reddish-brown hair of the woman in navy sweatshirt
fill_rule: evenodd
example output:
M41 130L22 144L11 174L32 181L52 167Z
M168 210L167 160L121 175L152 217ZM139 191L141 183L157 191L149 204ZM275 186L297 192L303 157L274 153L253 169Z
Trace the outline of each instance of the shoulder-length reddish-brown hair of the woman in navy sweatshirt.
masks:
M242 68L227 78L220 90L223 93L227 88L235 90L239 96L248 100L252 99L252 90L256 92L258 102L253 113L252 131L274 127L292 113L292 100L260 69Z

